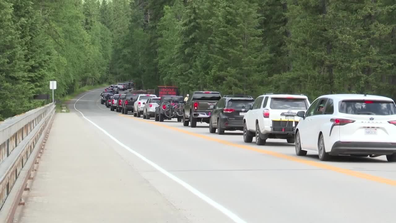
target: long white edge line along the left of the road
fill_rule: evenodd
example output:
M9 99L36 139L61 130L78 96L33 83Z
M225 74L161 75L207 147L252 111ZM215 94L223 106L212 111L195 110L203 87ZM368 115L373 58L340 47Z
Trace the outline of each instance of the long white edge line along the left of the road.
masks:
M93 92L93 91L90 91L90 92L84 94L83 96L78 98L76 100L76 102L74 102L74 109L77 112L80 112L80 110L78 110L76 108L76 103L78 102L78 100L80 100L82 97L86 96L87 94L89 94L91 92ZM103 133L105 133L105 135L109 136L112 140L114 140L114 142L116 142L120 146L124 147L126 150L128 150L129 152L131 152L135 156L139 157L141 160L145 161L146 163L148 163L149 165L151 165L152 167L154 167L155 169L157 169L158 171L160 171L161 173L163 173L164 175L166 175L167 177L169 177L170 179L172 179L176 183L179 183L181 186L183 186L184 188L186 188L187 190L189 190L190 192L192 192L193 194L195 194L196 196L198 196L199 198L201 198L202 200L204 200L205 202L207 202L208 204L210 204L211 206L213 206L217 210L221 211L223 214L227 215L227 217L232 219L232 221L234 221L236 223L247 223L246 221L244 221L240 217L238 217L238 215L236 215L235 213L232 213L232 211L230 211L227 208L223 207L221 204L215 202L214 200L212 200L211 198L209 198L208 196L206 196L205 194L203 194L202 192L200 192L199 190L197 190L193 186L191 186L188 183L184 182L183 180L179 179L175 175L169 173L164 168L160 167L159 165L157 165L156 163L152 162L151 160L148 160L147 158L145 158L144 156L142 156L141 154L139 154L135 150L132 150L131 148L129 148L128 146L126 146L125 144L120 142L118 139L114 138L114 136L110 135L107 131L105 131L104 129L99 127L99 125L97 125L93 121L91 121L88 118L86 118L82 112L80 112L80 114L82 115L82 117L84 117L84 119L89 121L92 125L94 125L98 129L100 129Z

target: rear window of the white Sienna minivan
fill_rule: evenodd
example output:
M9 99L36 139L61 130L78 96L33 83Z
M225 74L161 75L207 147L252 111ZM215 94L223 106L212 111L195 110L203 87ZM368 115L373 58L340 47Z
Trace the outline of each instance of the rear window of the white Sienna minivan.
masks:
M350 115L394 115L396 107L392 101L344 100L339 112Z

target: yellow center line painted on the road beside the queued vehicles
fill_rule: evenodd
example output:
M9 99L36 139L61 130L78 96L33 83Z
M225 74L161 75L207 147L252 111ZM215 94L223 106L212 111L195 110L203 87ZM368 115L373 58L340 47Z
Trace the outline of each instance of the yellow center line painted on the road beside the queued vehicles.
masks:
M171 126L164 125L164 124L158 123L158 122L147 121L145 119L139 119L139 118L131 117L131 116L128 116L128 115L122 115L122 114L118 114L118 115L120 115L122 117L129 118L129 119L134 119L134 120L137 120L137 121L150 123L152 125L158 125L158 126L161 126L161 127L167 128L167 129L171 129L171 130L174 130L174 131L177 131L177 132L180 132L180 133L185 133L185 134L188 134L188 135L196 136L198 138L204 138L206 140L210 140L210 141L213 141L213 142L218 142L218 143L225 144L225 145L228 145L228 146L233 146L233 147L241 148L241 149L244 149L244 150L250 150L250 151L258 152L258 153L261 153L261 154L267 154L267 155L274 156L274 157L277 157L277 158L282 158L282 159L285 159L285 160L295 161L297 163L303 163L303 164L310 165L310 166L313 166L313 167L318 167L318 168L321 168L321 169L327 169L327 170L335 171L337 173L343 173L345 175L349 175L349 176L352 176L352 177L358 177L358 178L366 179L366 180L369 180L369 181L375 181L377 183L383 183L383 184L387 184L387 185L396 186L396 181L392 180L392 179L386 179L386 178L383 178L383 177L377 177L377 176L370 175L370 174L367 174L367 173L361 173L361 172L353 171L353 170L350 170L350 169L344 169L344 168L336 167L336 166L329 165L329 164L326 164L326 163L323 163L323 162L305 160L305 159L299 158L297 156L289 156L289 155L282 154L282 153L279 153L279 152L274 152L274 151L270 151L270 150L263 150L263 149L255 148L253 146L236 144L236 143L232 143L232 142L229 142L229 141L226 141L226 140L221 140L221 139L218 139L218 138L213 138L213 137L210 137L210 136L201 135L201 134L198 134L198 133L192 133L190 131L179 129L179 128L176 128L176 127L171 127Z

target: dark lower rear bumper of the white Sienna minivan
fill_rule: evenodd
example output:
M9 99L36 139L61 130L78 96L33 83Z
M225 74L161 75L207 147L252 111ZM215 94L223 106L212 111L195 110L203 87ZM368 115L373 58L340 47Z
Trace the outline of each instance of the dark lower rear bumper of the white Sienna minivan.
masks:
M390 155L396 153L396 143L390 142L341 142L331 147L331 155Z

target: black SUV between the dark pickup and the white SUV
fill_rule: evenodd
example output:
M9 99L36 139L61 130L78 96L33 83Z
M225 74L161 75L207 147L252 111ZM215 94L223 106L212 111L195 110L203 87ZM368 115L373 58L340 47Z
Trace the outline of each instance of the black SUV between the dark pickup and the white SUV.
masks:
M209 132L223 135L224 131L244 129L244 116L253 105L254 99L250 97L223 97L217 102L210 113Z

